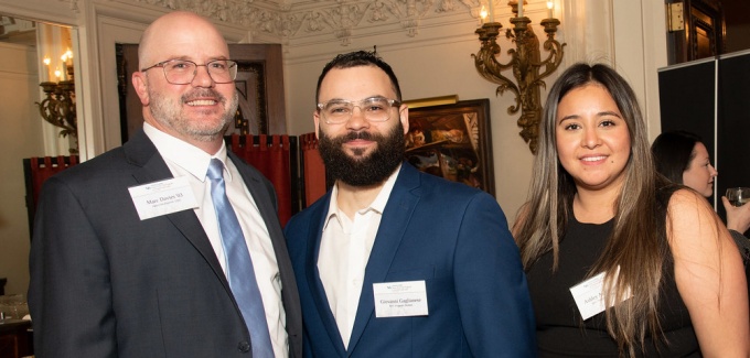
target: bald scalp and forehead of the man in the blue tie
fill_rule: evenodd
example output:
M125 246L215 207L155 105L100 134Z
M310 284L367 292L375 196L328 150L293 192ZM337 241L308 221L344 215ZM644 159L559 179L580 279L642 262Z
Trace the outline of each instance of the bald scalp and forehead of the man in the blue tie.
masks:
M199 50L203 44L218 44L229 55L226 41L205 18L188 11L170 12L149 25L138 46L138 68L185 56L185 48Z

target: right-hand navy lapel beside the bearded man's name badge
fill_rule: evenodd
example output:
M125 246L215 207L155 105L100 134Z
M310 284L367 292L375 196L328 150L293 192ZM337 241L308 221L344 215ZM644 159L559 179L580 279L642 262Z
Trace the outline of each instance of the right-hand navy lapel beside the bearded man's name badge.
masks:
M419 172L409 164L401 164L400 173L396 178L388 203L383 210L381 226L375 236L375 243L369 253L369 260L365 269L365 276L362 284L362 294L357 306L352 337L349 341L349 355L354 351L357 341L362 337L367 322L373 317L375 311L375 297L373 295L373 283L385 282L390 263L398 251L398 247L404 238L404 232L411 219L419 195L415 188L419 186Z

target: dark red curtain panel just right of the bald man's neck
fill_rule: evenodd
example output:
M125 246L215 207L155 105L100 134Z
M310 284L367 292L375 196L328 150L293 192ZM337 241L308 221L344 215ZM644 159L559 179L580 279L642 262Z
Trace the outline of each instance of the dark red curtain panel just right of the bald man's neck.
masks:
M255 142L257 140L257 142ZM232 152L255 166L276 189L281 226L292 215L289 135L232 134Z

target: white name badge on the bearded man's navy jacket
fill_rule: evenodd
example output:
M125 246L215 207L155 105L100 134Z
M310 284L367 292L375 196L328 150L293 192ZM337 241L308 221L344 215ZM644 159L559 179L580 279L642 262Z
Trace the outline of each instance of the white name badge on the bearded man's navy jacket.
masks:
M375 317L427 316L425 281L373 283Z

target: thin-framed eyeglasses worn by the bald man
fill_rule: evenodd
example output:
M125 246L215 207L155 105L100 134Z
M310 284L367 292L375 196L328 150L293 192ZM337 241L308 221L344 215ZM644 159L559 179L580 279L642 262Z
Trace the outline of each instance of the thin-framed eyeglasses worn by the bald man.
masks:
M141 69L147 72L153 67L161 67L164 70L167 82L172 85L188 85L193 83L197 74L197 67L205 66L208 76L217 84L229 84L237 78L237 63L231 59L214 59L205 65L199 65L188 59L167 59L151 67Z

